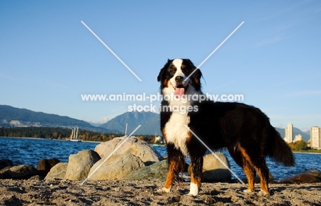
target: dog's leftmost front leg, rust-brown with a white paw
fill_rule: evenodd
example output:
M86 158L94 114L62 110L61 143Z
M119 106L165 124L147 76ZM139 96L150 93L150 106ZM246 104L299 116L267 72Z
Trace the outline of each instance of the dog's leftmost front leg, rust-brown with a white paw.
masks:
M171 185L173 184L176 175L178 172L182 172L185 167L185 156L178 148L175 148L174 144L167 144L167 155L169 168L164 187L162 188L163 192L171 191Z

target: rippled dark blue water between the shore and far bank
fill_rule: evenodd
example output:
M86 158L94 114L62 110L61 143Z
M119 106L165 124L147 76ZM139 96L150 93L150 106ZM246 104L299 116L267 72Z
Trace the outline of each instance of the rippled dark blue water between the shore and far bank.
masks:
M95 150L99 142L72 142L51 139L28 139L0 137L0 159L11 159L14 165L36 165L40 159L57 158L62 162L68 162L69 155L76 154L81 150ZM154 146L160 155L167 156L165 146ZM241 179L246 178L243 170L235 163L226 150L222 150L230 161L230 168ZM309 169L321 171L321 155L295 153L296 165L293 168L276 165L267 159L268 168L274 179L280 180L288 176L294 176ZM187 159L189 163L189 159ZM234 177L233 177L234 178Z

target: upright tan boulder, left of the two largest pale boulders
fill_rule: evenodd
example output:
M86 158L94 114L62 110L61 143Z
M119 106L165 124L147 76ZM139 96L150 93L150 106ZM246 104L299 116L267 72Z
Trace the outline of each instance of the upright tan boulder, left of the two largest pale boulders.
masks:
M99 159L99 155L93 150L82 150L70 155L64 179L80 181L86 179L89 170Z

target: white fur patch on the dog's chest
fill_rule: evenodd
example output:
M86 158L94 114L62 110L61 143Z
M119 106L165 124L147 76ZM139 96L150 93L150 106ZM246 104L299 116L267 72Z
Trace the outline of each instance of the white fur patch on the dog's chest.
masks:
M189 115L187 115L187 113L181 114L179 112L173 112L171 113L169 121L165 124L167 143L173 143L185 156L188 155L186 141L190 134L185 125L188 125L189 121Z

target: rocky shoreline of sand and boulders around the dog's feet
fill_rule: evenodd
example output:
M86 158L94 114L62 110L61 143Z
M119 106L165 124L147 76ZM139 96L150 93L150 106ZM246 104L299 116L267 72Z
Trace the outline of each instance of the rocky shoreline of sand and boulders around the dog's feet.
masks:
M32 165L0 160L0 205L321 205L321 172L274 181L271 196L244 194L243 185L213 155L204 156L198 196L188 196L189 165L168 194L158 192L167 175L167 161L145 141L115 138L69 156L68 163L42 159ZM229 165L222 153L217 157ZM108 161L106 161L108 160ZM243 180L246 182L246 180ZM259 192L257 179L256 192Z

